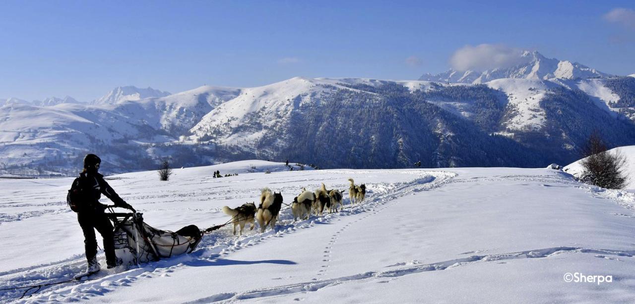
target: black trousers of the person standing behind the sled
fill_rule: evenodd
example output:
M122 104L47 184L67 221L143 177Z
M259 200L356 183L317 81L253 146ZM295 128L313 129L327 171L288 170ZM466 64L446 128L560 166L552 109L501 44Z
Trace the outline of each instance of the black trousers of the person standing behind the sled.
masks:
M77 222L84 232L84 248L86 249L86 260L90 261L97 255L97 239L95 238L95 229L102 235L104 239L104 251L106 254L106 263L108 265L117 265L115 255L114 239L112 237L112 224L104 213L77 213Z

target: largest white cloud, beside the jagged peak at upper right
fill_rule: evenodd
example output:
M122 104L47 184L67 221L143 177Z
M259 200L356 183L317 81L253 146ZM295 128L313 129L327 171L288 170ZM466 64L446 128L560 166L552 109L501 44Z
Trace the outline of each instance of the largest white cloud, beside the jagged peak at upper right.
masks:
M526 63L530 58L523 57L522 49L502 44L479 44L464 46L452 54L450 65L458 71L484 71L493 68L511 68Z

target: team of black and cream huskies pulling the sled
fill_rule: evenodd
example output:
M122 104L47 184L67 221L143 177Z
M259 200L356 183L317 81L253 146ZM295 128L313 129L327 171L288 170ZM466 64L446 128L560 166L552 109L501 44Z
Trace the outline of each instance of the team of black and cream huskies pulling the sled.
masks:
M355 185L353 179L349 179L351 186L349 187L349 199L351 204L358 204L364 201L366 196L366 185ZM237 208L229 208L224 206L223 212L232 217L231 222L234 224L234 235L236 235L236 226L239 226L239 236L243 235L243 229L246 224L250 225L250 230L255 227L255 221L260 225L260 231L265 232L268 225L271 229L276 227L278 213L283 205L282 193L275 193L269 188L262 189L260 193L260 205L256 208L255 203L244 203ZM285 204L286 205L286 204ZM293 221L298 218L301 220L309 219L311 213L322 216L324 210L329 213L339 212L338 208L344 206L342 204L342 193L338 189L327 190L324 183L322 187L312 192L305 187L302 193L293 198L291 203L291 213L293 213Z

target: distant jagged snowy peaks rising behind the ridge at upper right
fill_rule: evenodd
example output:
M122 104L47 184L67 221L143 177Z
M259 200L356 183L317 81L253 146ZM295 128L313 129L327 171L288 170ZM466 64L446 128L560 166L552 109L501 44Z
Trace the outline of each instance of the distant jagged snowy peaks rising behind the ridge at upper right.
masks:
M443 73L432 75L425 73L419 80L429 80L437 82L482 84L495 79L523 78L523 79L588 79L598 77L608 77L610 75L599 72L594 68L572 63L568 60L557 60L546 58L537 51L525 51L520 60L521 64L511 68L494 68L485 71L457 71L450 69Z

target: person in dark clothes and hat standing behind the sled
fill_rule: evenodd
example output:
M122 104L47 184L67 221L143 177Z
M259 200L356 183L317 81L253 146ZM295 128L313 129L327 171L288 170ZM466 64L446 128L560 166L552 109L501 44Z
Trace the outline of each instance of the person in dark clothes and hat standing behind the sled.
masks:
M84 189L84 201L79 206L77 212L77 221L84 232L84 247L86 250L86 260L88 260L87 272L98 272L99 264L97 263L97 239L95 238L95 229L102 235L104 239L104 251L106 254L107 267L116 267L120 262L115 255L113 227L104 210L107 208L99 202L102 194L114 202L115 206L126 208L135 212L132 206L122 200L119 195L104 181L104 175L98 173L99 165L102 160L94 154L86 155L84 158L84 170L79 174L81 189Z

